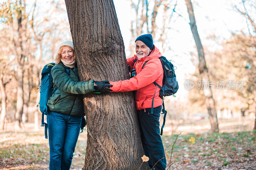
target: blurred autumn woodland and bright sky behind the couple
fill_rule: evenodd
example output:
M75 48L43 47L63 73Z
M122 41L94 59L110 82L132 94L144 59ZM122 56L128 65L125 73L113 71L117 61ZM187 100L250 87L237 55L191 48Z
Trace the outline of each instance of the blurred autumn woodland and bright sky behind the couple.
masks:
M179 134L180 131L183 134L197 134L256 129L254 0L215 1L209 2L208 6L199 0L192 1L202 48L198 48L194 34L191 34L193 23L188 15L190 1L123 1L129 8L121 6L122 3L117 0L114 4L125 42L126 57L135 54L134 41L139 35L151 33L154 44L177 67L175 71L180 89L175 94L176 97L170 96L164 100L168 114L164 128L166 143L169 142L168 135ZM240 29L236 30L236 27L229 27L232 25L227 24L220 28L225 36L221 36L219 29L214 32L209 23L218 27L218 18L210 14L202 16L202 13L199 13L199 10L207 11L207 7L211 8L211 3L220 3L220 7L225 5L226 12L236 14L234 18L228 19L234 21L233 24L238 25L237 28ZM216 6L218 5L212 5L212 8ZM122 12L123 8L130 12L125 13L127 9ZM228 13L221 14L220 9L216 8L216 13L220 13L223 18L230 17ZM127 15L130 20L122 18ZM37 86L40 85L43 66L53 62L58 45L62 41L72 40L65 2L0 0L0 23L0 132L6 140L9 139L7 132L10 131L33 131L33 134L39 131L43 137L44 128L39 128L41 112L39 107L36 107L40 98ZM205 32L207 29L211 31ZM200 55L206 64L202 65ZM253 135L255 136L255 133ZM218 135L217 139L219 140ZM86 138L84 140L86 141ZM255 143L255 137L252 142ZM46 143L47 141L43 145ZM86 145L86 142L83 144ZM83 154L81 151L81 158ZM228 160L221 161L224 164ZM73 166L74 169L78 167ZM212 165L204 162L204 166Z

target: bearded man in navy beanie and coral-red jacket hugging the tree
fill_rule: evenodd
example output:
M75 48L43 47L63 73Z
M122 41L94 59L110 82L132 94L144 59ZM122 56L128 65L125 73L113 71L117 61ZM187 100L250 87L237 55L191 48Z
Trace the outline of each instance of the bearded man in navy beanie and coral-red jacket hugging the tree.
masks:
M128 58L127 63L131 70L136 70L137 75L129 80L110 82L113 85L110 89L113 90L112 92L136 90L135 102L140 136L145 155L149 157L148 164L151 168L156 164L154 166L156 170L165 170L166 159L159 129L162 99L159 97L160 88L153 84L156 82L163 86L163 67L159 59L162 54L153 44L151 34L140 35L135 41L135 46L137 55ZM151 114L153 98L154 105Z

